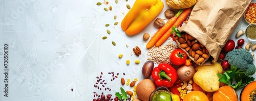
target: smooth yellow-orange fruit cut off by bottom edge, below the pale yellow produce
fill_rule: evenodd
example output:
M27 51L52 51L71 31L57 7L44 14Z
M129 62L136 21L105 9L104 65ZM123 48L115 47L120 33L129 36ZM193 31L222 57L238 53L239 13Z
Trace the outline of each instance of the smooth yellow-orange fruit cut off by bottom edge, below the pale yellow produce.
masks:
M191 91L184 96L183 101L209 101L209 99L201 91Z

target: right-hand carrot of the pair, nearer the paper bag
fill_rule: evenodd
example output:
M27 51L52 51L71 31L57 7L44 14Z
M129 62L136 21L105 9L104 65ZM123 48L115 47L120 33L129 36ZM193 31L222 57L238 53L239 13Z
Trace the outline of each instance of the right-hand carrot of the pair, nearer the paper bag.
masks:
M176 20L176 22L173 24L172 27L175 27L175 26L180 26L181 23L187 18L187 16L190 14L191 12L191 8L187 8L185 9L181 15L178 17L178 19ZM172 35L172 31L173 31L173 28L169 28L165 33L164 35L156 42L156 47L162 45L169 37L170 35Z

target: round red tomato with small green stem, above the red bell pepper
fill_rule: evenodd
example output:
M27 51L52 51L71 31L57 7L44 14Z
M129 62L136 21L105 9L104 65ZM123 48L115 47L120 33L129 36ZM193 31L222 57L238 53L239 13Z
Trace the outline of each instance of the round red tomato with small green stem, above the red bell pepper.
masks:
M175 49L170 53L170 62L175 65L181 65L186 62L187 54L182 49Z

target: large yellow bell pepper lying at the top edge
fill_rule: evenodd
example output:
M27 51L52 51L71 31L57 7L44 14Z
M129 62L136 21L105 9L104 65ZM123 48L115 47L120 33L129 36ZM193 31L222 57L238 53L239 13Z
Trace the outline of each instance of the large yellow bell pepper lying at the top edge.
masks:
M161 0L136 0L132 9L123 18L121 27L127 35L139 33L162 9Z

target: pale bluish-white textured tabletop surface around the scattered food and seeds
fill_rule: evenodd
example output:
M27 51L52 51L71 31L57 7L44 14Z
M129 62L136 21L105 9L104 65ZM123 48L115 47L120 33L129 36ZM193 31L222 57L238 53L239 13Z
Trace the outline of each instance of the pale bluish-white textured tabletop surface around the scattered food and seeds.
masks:
M97 6L97 2L102 5ZM153 34L158 28L151 22L138 35L126 36L120 23L129 11L126 4L132 7L135 0L119 0L118 4L110 0L108 5L103 2L0 1L0 100L92 100L94 91L114 95L120 87L132 90L129 86L121 86L120 78L143 79L141 67L149 56L146 55L146 42L142 36L145 32ZM163 2L165 7L158 16L161 18L165 18L163 12L168 9ZM103 10L109 6L113 7L112 11ZM115 26L116 21L119 24ZM106 23L110 26L105 27ZM234 33L239 29L245 30L246 26L242 19ZM111 35L106 33L106 29L111 30ZM102 40L103 36L108 39ZM243 38L246 39L245 36ZM238 40L234 34L231 39ZM111 44L112 41L116 46ZM3 92L5 43L9 46L8 97ZM125 44L130 47L126 48ZM142 49L139 57L131 56L135 46ZM121 59L118 58L120 53L124 54ZM126 65L126 59L131 60L130 65ZM141 63L135 64L135 59ZM111 91L94 88L100 72L108 83L105 87L110 87ZM119 76L111 82L112 75L108 72L119 73Z

